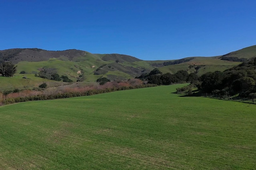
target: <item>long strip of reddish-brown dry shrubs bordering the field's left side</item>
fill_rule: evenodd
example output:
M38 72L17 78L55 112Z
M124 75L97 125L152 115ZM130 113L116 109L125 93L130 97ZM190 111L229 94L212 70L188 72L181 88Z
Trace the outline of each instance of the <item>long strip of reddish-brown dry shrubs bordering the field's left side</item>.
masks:
M155 86L155 85L154 85ZM106 84L89 84L87 86L58 86L48 88L44 91L23 90L17 93L11 93L4 96L0 93L0 106L3 104L11 104L15 102L26 102L30 100L50 100L57 98L70 98L84 95L93 95L99 93L113 92L116 90L127 90L133 88L149 87L142 85L139 79L130 79L128 81L114 81L107 82ZM32 97L33 96L33 97ZM30 98L26 98L30 97ZM31 98L32 97L32 98Z

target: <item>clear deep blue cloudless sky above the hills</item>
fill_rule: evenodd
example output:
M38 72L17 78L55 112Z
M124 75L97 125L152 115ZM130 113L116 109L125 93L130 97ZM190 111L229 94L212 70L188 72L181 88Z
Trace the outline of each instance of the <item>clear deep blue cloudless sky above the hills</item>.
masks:
M0 24L0 50L216 56L256 45L256 0L0 0Z

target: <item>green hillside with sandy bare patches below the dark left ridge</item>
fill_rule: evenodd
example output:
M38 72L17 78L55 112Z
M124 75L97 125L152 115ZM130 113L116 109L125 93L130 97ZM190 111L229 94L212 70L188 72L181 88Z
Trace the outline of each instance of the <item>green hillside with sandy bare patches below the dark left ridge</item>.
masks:
M39 62L21 61L17 64L17 73L25 71L27 74L35 74L41 68L56 68L58 74L66 75L71 80L76 81L76 78L80 75L78 72L82 71L84 72L85 82L94 82L100 77L108 77L111 80L134 78L142 74L143 71L150 72L153 69L153 66L150 66L145 61L123 61L116 63L112 60L102 60L104 56L86 53L85 56L74 57L72 61L69 61L67 57Z

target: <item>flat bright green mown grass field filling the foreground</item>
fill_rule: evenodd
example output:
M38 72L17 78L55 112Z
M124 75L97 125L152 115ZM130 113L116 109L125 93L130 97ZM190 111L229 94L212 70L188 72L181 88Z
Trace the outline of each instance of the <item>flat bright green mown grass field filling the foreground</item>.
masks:
M158 86L0 107L0 169L255 169L256 105Z

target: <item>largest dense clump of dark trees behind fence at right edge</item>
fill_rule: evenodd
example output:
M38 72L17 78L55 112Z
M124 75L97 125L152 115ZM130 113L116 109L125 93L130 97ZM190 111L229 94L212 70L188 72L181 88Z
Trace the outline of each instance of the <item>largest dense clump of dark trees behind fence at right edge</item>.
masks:
M224 72L207 72L198 79L198 89L206 93L253 96L256 93L256 58Z

